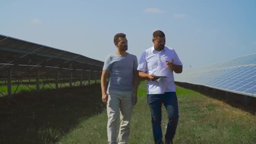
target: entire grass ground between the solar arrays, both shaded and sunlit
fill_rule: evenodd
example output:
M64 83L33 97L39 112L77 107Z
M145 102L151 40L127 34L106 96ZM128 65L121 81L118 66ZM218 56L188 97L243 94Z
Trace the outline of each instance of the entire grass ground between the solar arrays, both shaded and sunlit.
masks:
M176 86L179 125L176 144L254 144L256 115ZM146 83L139 85L129 144L153 144ZM106 106L99 84L21 92L0 99L0 143L107 144ZM163 133L167 116L163 107Z

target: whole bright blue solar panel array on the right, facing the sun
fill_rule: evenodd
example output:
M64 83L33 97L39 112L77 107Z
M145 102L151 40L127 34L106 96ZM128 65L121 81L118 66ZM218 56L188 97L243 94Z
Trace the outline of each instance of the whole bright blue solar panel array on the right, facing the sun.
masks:
M199 68L184 69L175 81L256 97L256 53Z

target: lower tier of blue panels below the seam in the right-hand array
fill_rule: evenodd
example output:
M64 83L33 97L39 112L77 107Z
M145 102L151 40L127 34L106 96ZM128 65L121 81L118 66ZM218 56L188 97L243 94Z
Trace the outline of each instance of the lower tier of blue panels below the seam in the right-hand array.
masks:
M214 69L190 81L228 91L256 94L256 65Z

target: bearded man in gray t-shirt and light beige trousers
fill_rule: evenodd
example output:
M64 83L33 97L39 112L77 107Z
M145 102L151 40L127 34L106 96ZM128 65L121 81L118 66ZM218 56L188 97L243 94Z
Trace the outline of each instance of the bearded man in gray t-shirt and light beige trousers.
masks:
M107 56L101 75L102 101L107 104L107 136L109 144L126 144L130 134L133 105L137 102L138 61L127 53L126 35L118 33L114 37L116 53ZM107 75L110 73L108 88ZM120 111L120 128L116 140L117 119Z

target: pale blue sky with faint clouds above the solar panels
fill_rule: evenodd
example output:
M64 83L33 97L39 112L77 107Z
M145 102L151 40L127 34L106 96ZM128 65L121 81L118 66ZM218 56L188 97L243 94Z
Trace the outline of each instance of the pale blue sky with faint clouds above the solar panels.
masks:
M104 61L123 32L138 59L162 30L184 67L256 53L256 0L1 0L0 34Z

